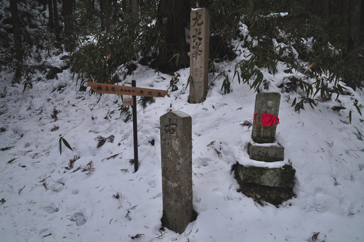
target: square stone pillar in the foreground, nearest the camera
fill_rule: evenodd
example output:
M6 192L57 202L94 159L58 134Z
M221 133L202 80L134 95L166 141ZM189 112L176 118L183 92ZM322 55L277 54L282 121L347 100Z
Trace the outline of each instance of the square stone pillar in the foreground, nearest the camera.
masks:
M192 119L182 111L160 117L162 160L162 225L182 233L193 220Z

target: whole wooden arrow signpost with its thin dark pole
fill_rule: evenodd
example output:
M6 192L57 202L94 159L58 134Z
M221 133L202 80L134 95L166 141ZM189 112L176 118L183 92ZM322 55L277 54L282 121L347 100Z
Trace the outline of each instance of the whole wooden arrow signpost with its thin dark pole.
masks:
M136 122L136 96L145 97L165 97L167 90L157 90L149 88L137 88L135 80L132 86L119 86L97 82L87 82L87 84L97 93L132 95L131 98L124 99L124 105L132 106L132 130L134 139L134 172L138 171L138 128Z

